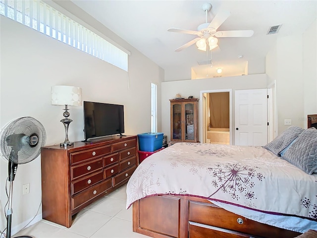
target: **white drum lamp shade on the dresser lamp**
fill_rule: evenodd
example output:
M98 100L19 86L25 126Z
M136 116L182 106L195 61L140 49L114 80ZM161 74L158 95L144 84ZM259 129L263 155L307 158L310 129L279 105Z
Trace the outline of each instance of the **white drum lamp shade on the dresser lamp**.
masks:
M52 105L81 106L81 88L52 86Z

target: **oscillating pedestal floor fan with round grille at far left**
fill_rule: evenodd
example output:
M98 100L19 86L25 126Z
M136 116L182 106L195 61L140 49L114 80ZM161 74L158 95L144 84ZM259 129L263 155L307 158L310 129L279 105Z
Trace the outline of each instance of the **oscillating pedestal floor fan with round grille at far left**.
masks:
M6 237L11 238L13 180L19 164L26 164L37 158L45 145L44 126L31 117L23 117L7 124L0 133L0 151L8 160L9 198L6 212ZM31 238L22 236L19 238Z

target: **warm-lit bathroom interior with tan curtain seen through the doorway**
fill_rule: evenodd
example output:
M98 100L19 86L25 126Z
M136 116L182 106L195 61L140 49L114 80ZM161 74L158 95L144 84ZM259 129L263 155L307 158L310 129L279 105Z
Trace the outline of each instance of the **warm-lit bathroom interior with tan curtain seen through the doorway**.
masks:
M230 144L229 92L207 93L207 143Z

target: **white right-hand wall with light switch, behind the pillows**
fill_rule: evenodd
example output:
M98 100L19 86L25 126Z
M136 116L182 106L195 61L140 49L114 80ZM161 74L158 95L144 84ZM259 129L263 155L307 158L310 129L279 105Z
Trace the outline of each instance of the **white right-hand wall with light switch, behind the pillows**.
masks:
M317 113L316 20L304 32L277 38L266 56L268 82L276 82L278 134L288 125L307 128L307 115Z

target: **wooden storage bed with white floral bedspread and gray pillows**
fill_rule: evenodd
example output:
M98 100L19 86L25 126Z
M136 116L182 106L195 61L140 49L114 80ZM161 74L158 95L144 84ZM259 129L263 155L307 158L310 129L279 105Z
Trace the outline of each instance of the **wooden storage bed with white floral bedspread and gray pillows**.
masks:
M133 231L158 238L294 238L317 230L317 129L265 146L175 143L127 184Z

